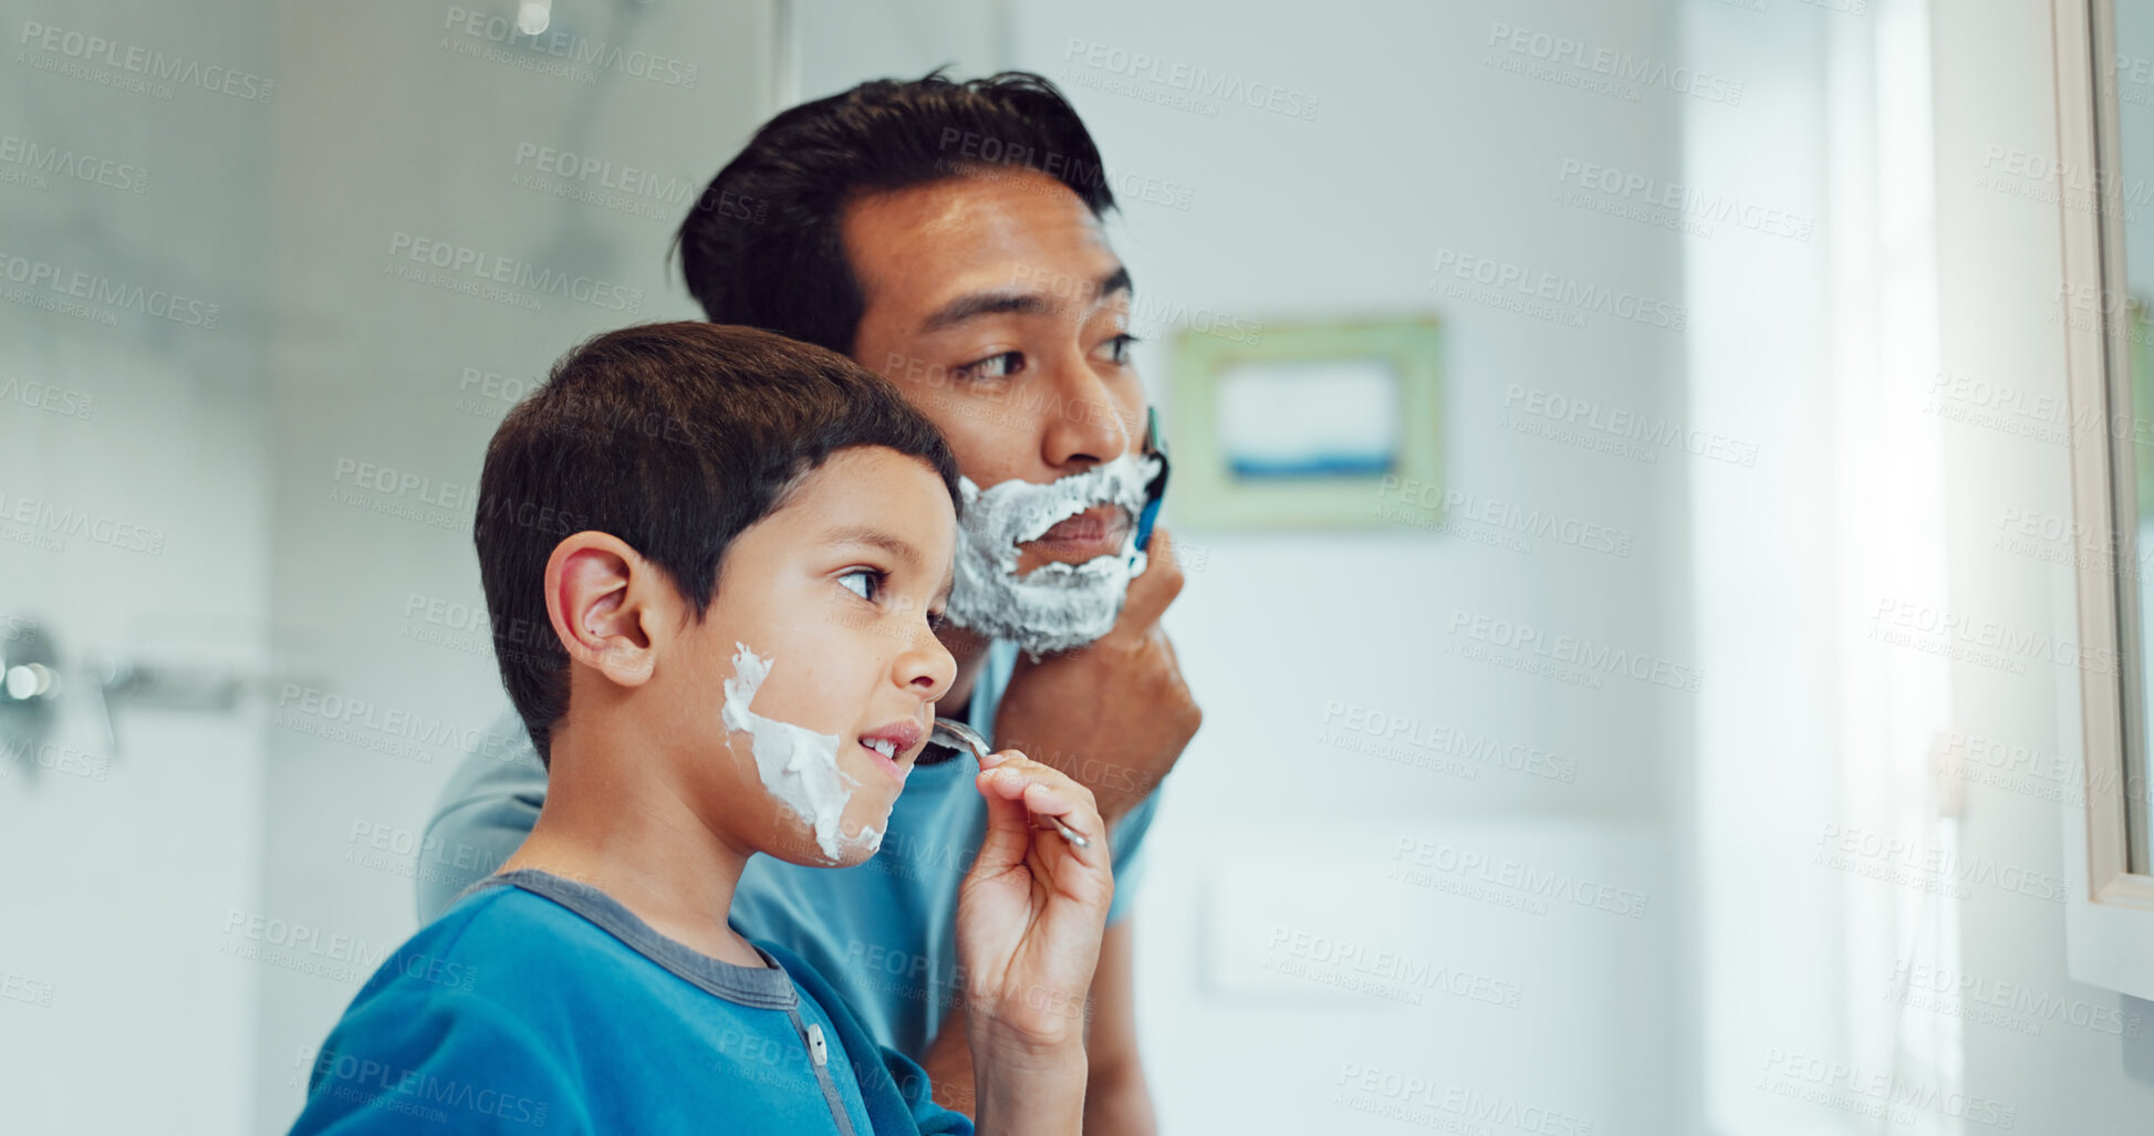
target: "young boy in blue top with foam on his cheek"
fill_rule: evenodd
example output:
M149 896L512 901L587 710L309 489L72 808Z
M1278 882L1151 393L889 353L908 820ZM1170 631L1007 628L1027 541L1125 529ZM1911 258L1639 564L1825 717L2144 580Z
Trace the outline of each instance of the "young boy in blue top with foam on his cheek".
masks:
M954 500L935 427L821 347L661 323L556 364L487 448L476 526L545 808L360 989L293 1132L971 1132L726 920L756 854L875 854L954 673ZM1075 1134L1105 828L1068 776L980 765L978 1130Z

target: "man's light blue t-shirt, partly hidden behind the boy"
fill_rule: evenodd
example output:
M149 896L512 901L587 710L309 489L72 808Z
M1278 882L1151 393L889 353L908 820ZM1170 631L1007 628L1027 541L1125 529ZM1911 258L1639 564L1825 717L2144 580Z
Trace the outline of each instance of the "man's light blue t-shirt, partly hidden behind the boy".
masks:
M1017 645L995 642L974 683L967 718L993 737L995 707L1017 666ZM890 811L881 851L853 869L814 869L754 856L732 895L732 925L808 961L847 1000L877 1043L922 1061L943 1017L959 1009L956 888L987 832L987 802L959 754L915 765ZM1114 828L1114 905L1129 912L1137 849L1159 793ZM442 791L418 862L420 920L437 916L472 882L498 869L538 819L545 767L508 714Z

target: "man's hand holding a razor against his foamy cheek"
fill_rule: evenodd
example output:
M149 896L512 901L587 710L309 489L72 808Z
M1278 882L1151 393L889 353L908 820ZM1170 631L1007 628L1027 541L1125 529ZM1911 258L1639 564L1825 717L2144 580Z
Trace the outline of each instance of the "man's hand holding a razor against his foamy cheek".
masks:
M1019 655L995 711L995 744L1071 774L1107 823L1150 795L1204 724L1159 627L1183 591L1165 528L1152 528L1148 556L1114 627L1090 647L1040 662Z

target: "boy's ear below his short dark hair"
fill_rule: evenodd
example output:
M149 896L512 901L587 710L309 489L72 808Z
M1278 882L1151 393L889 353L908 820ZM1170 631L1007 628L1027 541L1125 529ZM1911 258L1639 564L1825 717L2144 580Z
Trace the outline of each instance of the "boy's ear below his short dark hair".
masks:
M571 662L618 685L642 685L657 668L653 632L672 627L663 573L610 532L577 532L545 563L545 614Z

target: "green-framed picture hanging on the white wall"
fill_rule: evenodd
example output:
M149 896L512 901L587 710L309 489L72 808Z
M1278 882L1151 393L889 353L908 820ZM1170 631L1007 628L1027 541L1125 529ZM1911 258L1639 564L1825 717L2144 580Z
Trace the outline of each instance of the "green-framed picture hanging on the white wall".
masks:
M1185 524L1394 524L1441 500L1435 317L1267 323L1260 338L1174 341L1174 481ZM1411 498L1404 489L1411 487Z

